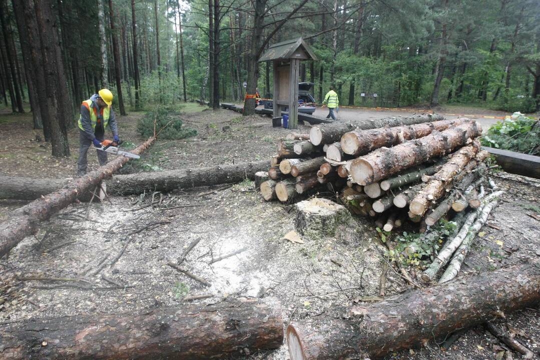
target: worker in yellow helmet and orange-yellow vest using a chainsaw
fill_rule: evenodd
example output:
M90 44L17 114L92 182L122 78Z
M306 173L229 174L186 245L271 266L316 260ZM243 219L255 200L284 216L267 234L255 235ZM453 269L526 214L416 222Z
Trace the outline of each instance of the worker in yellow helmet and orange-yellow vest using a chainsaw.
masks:
M101 147L107 125L112 131L113 141L118 142L120 140L116 118L111 107L112 97L112 92L109 89L102 89L80 105L79 161L77 162L77 175L79 176L86 174L88 167L86 153L90 145ZM97 151L97 154L99 165L107 164L107 153Z

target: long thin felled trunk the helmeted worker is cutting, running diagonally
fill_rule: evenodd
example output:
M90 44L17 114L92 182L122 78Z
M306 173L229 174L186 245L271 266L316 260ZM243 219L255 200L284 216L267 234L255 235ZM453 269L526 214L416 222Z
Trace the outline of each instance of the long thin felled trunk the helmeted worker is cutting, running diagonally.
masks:
M155 138L151 137L133 150L132 153L140 154L144 152L154 140ZM79 194L92 191L100 181L111 176L128 160L129 158L119 156L109 164L86 174L68 186L32 201L11 213L7 220L0 223L0 257L9 253L9 250L21 242L24 237L34 233L40 221L49 219L51 215L70 205L77 199Z

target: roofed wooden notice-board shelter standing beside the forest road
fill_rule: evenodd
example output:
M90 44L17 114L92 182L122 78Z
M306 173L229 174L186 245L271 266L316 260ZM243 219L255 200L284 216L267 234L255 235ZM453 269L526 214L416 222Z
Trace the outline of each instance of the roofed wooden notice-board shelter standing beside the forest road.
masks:
M301 60L317 60L302 38L273 44L260 57L259 62L272 61L274 69L274 117L288 108L288 128L298 125L298 74Z

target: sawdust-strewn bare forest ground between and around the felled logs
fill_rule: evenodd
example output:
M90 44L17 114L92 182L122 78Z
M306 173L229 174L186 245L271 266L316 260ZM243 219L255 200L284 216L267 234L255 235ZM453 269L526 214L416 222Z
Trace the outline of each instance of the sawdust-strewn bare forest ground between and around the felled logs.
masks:
M198 135L185 140L158 140L139 164L163 169L232 164L266 159L275 154L276 141L288 130L273 128L267 117L188 107L181 117ZM373 112L373 116L387 116ZM410 113L401 113L407 115ZM120 137L140 144L136 133L142 113L118 117ZM372 116L372 114L369 114ZM50 156L50 146L36 141L31 117L0 114L0 175L35 178L69 178L75 174L77 129L70 131L72 155ZM300 130L309 128L300 125ZM97 167L95 152L89 164ZM527 214L539 212L540 181L499 173L498 186L505 190L488 225L477 237L460 276L490 271L540 256L540 221ZM73 204L43 222L36 236L29 236L0 261L0 324L32 317L73 314L105 314L136 311L183 303L186 295L211 294L200 302L224 297L273 296L282 304L284 321L298 321L321 314L336 304L362 296L379 295L379 279L385 257L371 219L355 218L341 225L335 237L284 240L294 229L294 205L266 202L251 181L224 186L178 189L163 195L163 204L149 205L153 194L114 196L111 203ZM155 196L160 196L156 194ZM332 193L320 196L332 197ZM0 220L24 202L0 202ZM128 236L134 230L137 234ZM167 266L192 241L198 245L185 266L211 282L204 287ZM109 266L117 254L125 252ZM212 259L241 248L244 252L210 264ZM105 264L101 266L100 264ZM109 287L112 279L125 286ZM21 281L17 276L82 277L84 284ZM387 274L387 295L409 287L393 271ZM82 285L77 287L78 285ZM72 287L75 285L75 287ZM520 341L540 358L540 307L524 309L497 324L507 323ZM441 339L437 339L438 342ZM387 359L494 359L501 344L482 327L465 332L447 352L435 341L427 347L400 351ZM514 354L515 358L519 358ZM286 360L286 344L280 349L246 356L251 359Z

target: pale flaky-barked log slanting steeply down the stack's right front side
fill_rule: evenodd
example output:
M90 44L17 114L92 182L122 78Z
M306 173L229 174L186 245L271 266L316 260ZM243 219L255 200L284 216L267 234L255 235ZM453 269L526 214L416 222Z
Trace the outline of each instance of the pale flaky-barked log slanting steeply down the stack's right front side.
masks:
M464 146L455 152L450 160L435 175L431 176L426 186L411 200L409 203L410 212L416 215L426 213L429 203L441 198L454 183L454 177L476 156L479 148L480 144L473 142L473 144Z

